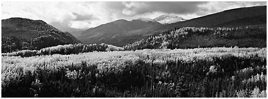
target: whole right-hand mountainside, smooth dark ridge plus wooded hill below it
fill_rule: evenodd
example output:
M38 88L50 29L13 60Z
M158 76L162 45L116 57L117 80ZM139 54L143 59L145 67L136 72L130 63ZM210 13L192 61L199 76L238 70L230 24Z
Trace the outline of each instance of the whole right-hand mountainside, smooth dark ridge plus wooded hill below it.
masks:
M156 34L126 45L125 49L266 47L266 21L266 5L225 10L151 28Z

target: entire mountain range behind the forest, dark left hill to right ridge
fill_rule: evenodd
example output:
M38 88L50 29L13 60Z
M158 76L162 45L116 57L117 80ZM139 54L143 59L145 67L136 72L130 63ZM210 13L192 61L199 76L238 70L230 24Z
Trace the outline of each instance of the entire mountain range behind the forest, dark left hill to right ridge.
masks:
M123 46L146 39L156 33L183 27L236 28L247 25L266 26L266 20L266 5L225 10L189 20L173 15L162 15L156 19L134 19L132 21L120 19L99 25L96 28L73 32L72 34L75 35L76 39L69 32L62 32L44 21L10 18L1 21L1 47L2 52L13 52L16 50L39 50L44 47L70 43L107 43Z

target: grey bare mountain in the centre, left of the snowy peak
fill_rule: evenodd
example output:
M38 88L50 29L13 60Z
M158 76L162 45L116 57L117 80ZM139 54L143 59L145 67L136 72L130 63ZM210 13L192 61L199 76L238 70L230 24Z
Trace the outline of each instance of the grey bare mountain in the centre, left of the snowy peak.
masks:
M147 29L154 28L161 23L152 19L134 19L126 21L124 19L112 21L96 28L89 28L80 33L78 39L82 43L107 43L116 46L123 46L128 43L143 39Z

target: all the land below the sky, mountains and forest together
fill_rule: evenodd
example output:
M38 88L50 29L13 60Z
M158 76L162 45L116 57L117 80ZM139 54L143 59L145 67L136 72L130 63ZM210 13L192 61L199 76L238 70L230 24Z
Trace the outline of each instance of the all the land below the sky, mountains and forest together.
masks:
M72 32L2 19L1 97L266 98L266 12L163 14Z

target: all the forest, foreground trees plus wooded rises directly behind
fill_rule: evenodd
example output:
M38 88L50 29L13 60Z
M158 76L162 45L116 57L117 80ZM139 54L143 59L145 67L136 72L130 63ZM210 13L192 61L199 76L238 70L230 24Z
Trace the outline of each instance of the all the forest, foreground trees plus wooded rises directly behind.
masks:
M267 97L266 28L259 26L175 28L123 47L16 50L16 38L2 39L2 97Z

